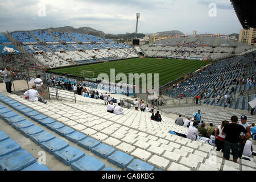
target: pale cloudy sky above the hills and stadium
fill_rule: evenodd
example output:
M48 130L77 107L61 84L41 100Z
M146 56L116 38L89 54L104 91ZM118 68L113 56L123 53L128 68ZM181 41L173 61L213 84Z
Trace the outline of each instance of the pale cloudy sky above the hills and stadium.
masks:
M0 0L0 32L72 26L125 34L135 32L136 13L143 34L233 34L242 28L229 0Z

